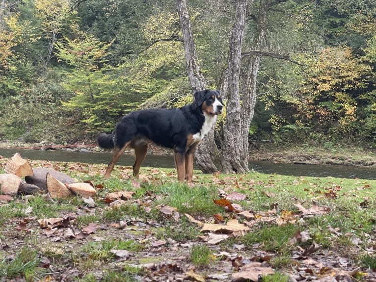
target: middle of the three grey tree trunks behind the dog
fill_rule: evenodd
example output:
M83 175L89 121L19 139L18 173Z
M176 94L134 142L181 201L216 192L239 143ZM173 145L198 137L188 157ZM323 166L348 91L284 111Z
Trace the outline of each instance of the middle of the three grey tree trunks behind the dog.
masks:
M222 169L224 172L245 172L243 166L242 117L240 107L240 70L242 61L242 43L245 31L245 17L248 0L236 0L236 16L228 56L228 100L226 105L226 128L224 147L222 149Z

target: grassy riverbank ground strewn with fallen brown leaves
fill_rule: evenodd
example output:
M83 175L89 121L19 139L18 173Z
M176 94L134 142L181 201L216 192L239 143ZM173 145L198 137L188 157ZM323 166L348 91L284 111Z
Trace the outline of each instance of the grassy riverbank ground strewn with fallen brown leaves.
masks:
M195 172L189 187L169 169L30 164L97 195L0 201L0 281L376 280L374 180Z

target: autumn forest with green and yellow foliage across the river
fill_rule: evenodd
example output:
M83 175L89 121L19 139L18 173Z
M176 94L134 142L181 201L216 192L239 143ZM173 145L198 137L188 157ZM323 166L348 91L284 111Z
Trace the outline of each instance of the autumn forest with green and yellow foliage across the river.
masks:
M244 50L262 2L247 13ZM268 3L249 138L375 149L376 2ZM175 1L0 4L1 140L92 143L128 112L192 100ZM207 87L217 89L234 2L189 0L188 10Z

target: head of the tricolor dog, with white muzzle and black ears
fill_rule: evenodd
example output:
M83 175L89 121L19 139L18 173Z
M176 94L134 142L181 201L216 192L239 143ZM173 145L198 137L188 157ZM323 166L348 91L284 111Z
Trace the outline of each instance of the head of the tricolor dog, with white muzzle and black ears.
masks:
M223 110L222 98L218 90L200 90L194 93L194 102L202 112L210 115L219 115Z

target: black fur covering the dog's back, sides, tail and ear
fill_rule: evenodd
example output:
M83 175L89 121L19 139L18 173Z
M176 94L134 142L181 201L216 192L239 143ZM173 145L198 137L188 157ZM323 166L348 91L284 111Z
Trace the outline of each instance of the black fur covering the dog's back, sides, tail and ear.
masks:
M184 153L188 135L200 132L204 124L202 103L213 95L217 97L219 93L197 91L193 103L181 108L144 109L129 113L116 125L115 133L101 133L98 144L105 149L122 148L127 142L146 137L158 145Z

